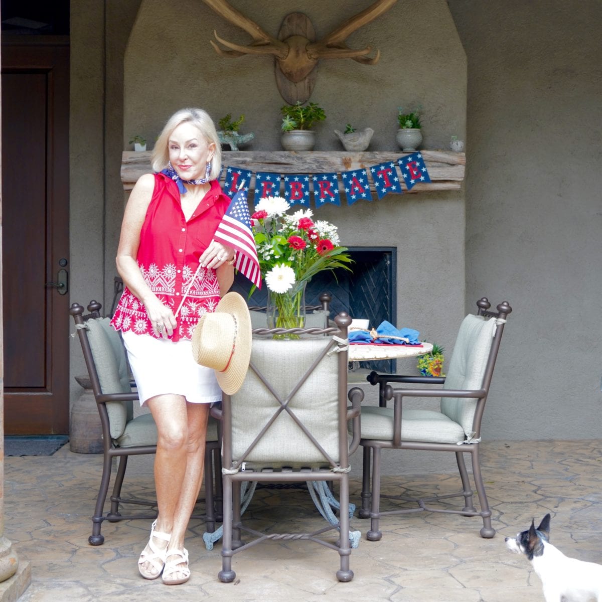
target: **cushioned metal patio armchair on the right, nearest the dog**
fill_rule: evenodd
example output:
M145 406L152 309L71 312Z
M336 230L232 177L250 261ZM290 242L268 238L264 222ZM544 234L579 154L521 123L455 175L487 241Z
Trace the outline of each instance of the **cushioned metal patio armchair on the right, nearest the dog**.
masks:
M382 532L379 530L380 517L423 510L482 517L483 527L480 535L484 538L495 535L495 529L491 527L491 510L481 475L480 431L504 323L512 308L504 301L497 306L497 312L489 311L491 304L485 297L477 301L477 306L477 315L468 314L462 321L446 377L401 376L376 372L367 377L368 382L372 385L378 384L380 388L380 406L364 406L361 414L360 445L364 447L364 472L362 509L359 516L370 517L370 530L367 532L370 541L379 541L382 538ZM443 386L436 389L394 389L388 383ZM408 397L441 398L439 411L403 408L403 400ZM393 408L387 408L386 402L391 399L394 400ZM380 455L383 449L431 450L455 454L462 491L423 499L381 494ZM370 452L373 456L371 462ZM473 506L473 491L464 462L465 453L471 455L473 479L479 496L478 511ZM433 501L453 497L464 497L462 509L431 505ZM383 512L380 510L381 498L414 501L418 507Z

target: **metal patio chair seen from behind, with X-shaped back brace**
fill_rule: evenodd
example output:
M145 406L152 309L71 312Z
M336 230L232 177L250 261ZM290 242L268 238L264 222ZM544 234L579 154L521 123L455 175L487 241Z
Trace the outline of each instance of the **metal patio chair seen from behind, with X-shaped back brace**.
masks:
M299 340L274 340L284 329L256 329L246 379L235 395L224 395L222 409L212 410L223 420L223 542L222 582L232 582L232 557L267 539L311 539L338 551L337 578L353 578L349 568L349 454L347 421L359 427L361 389L350 392L347 408L347 326L341 312L336 328L295 329ZM241 517L241 484L334 482L339 486L338 520L310 533L261 533ZM312 497L314 497L312 489ZM244 521L243 521L244 518ZM338 541L323 533L338 531ZM246 544L241 531L254 537Z

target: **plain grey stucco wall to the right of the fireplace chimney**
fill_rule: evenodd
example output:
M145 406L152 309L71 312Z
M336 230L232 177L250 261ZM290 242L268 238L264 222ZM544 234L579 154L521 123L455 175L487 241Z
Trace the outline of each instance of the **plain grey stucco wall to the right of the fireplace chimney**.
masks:
M602 4L450 0L468 57L467 303L515 308L485 438L600 438Z

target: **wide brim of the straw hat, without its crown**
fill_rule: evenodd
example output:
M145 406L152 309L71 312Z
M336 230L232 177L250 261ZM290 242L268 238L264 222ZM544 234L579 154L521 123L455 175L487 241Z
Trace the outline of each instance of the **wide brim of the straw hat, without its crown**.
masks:
M216 370L217 382L222 391L234 395L243 386L251 359L251 315L243 297L238 293L226 293L217 304L216 312L233 314L237 321L237 335L232 359L223 372Z

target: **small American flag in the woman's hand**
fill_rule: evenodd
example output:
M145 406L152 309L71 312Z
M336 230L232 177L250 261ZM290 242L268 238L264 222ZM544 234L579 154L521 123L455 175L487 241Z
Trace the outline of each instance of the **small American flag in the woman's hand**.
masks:
M232 198L228 211L222 217L222 222L217 226L213 238L229 247L234 247L237 251L234 267L257 288L261 288L261 270L259 270L247 193L244 188L239 188Z

